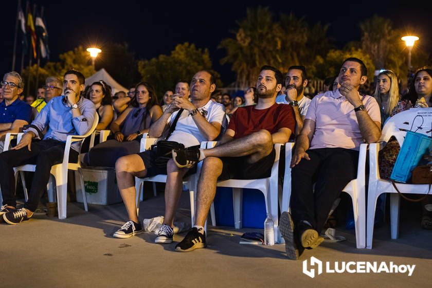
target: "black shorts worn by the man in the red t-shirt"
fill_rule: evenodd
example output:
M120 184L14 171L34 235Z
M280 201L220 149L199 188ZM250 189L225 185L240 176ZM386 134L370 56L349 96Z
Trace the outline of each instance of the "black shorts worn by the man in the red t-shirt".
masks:
M275 163L276 150L259 159L256 163L248 163L249 156L221 157L223 163L222 173L218 180L228 179L260 179L270 177Z

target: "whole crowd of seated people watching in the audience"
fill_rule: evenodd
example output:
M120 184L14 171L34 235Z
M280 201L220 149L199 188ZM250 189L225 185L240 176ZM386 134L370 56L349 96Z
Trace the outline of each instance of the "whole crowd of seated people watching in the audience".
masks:
M48 77L38 89L38 99L20 100L24 83L16 72L6 73L0 88L0 143L6 133L24 132L16 146L0 153L0 188L3 203L0 219L20 224L32 218L49 180L52 165L61 163L68 135L84 135L99 116L96 130L111 130L111 138L88 152L88 166L113 167L128 220L113 235L129 238L143 232L136 210L134 177L166 174L164 223L156 243L173 241L173 222L182 192L182 179L196 172L196 217L177 251L206 247L204 224L218 181L268 177L276 157L275 143L295 141L292 167L291 213L281 211L280 231L287 256L297 259L303 249L322 241L320 232L340 191L356 177L361 143L377 142L384 122L410 107L432 105L432 70L415 74L409 93L400 96L397 76L383 70L376 78L372 96L359 93L367 81L362 60L348 58L339 74L325 81L325 91L307 97L307 69L290 66L285 76L275 67L263 66L257 82L244 95L215 93L213 75L197 71L165 92L161 102L151 83L140 82L129 92L112 95L104 81L85 87L84 76L68 70L63 81ZM174 84L174 83L173 83ZM26 103L27 102L27 103ZM31 105L28 103L31 102ZM143 134L158 138L170 157L157 149L140 152ZM203 141L217 140L202 149ZM389 141L381 155L383 166L399 152ZM84 145L83 145L84 146ZM83 152L80 142L71 146L69 160ZM3 147L0 147L0 152ZM159 151L160 152L160 151ZM165 159L165 160L164 160ZM36 164L28 200L18 208L13 168ZM391 169L391 167L387 167ZM426 200L430 202L430 197ZM422 227L432 228L424 209Z

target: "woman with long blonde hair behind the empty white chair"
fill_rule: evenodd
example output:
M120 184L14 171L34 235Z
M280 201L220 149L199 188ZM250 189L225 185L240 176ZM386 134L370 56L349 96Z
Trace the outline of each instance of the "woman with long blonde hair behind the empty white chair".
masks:
M398 77L391 70L382 71L376 78L375 88L375 100L380 105L381 111L381 127L384 126L384 122L390 117L399 99Z

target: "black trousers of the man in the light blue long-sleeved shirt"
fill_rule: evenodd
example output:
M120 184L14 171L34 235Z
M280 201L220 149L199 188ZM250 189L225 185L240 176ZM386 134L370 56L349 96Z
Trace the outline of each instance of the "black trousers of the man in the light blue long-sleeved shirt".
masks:
M39 201L49 181L51 167L63 161L65 143L46 139L33 141L31 150L27 147L20 150L8 150L0 153L0 188L2 189L3 205L16 207L15 198L15 176L13 168L25 164L35 164L36 170L33 175L28 201L24 207L30 211L38 208ZM70 149L69 161L77 161L78 152Z

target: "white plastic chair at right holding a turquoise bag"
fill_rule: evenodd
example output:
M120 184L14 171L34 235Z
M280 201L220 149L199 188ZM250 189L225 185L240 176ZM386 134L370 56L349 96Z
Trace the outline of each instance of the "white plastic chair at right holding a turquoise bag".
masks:
M416 108L400 112L389 118L383 127L383 132L379 143L371 143L369 145L369 186L368 186L368 209L367 209L367 248L372 249L373 226L375 220L376 200L382 193L391 193L390 195L390 230L391 239L399 238L399 205L400 196L394 189L388 179L380 177L380 169L378 165L378 152L380 150L380 142L388 142L391 136L394 136L399 145L402 147L406 131L411 129L413 120L417 115L422 115L422 129L418 129L417 133L430 136L432 122L432 108ZM417 129L418 124L422 121L417 118L416 123L412 125L413 130ZM419 121L417 123L417 121ZM405 131L403 131L405 130ZM405 184L397 183L397 187L401 193L407 194L427 194L429 191L428 184Z

